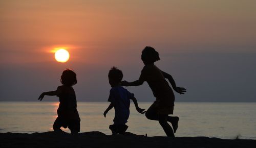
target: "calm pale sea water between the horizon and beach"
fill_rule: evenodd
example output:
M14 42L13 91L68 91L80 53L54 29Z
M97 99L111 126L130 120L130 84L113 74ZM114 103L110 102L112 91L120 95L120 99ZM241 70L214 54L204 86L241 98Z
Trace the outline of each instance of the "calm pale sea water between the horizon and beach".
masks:
M104 118L109 103L78 102L81 132L100 131L111 134L114 109ZM151 103L139 103L147 109ZM58 102L0 102L0 132L34 133L53 131ZM138 135L165 136L159 123L136 112L131 103L127 132ZM256 139L256 103L176 103L179 116L177 137L208 136L225 139ZM63 129L70 132L67 129Z

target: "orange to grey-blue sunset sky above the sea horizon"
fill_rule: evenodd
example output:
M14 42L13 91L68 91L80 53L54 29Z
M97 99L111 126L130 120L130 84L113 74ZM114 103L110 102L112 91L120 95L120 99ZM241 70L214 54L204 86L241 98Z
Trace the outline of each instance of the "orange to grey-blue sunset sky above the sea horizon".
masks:
M256 102L256 1L247 0L0 0L0 101L37 101L71 68L77 101L106 102L110 68L137 80L148 45L159 52L155 65L187 89L176 102ZM57 62L54 48L69 61ZM155 100L146 83L126 89Z

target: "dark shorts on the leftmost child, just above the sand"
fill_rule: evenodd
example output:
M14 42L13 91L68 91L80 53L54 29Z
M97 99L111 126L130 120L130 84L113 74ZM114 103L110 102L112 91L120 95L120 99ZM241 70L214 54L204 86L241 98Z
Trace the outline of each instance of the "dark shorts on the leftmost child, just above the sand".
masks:
M69 128L71 132L80 132L80 121L77 120L65 120L57 117L53 124L53 129L58 130L60 127Z

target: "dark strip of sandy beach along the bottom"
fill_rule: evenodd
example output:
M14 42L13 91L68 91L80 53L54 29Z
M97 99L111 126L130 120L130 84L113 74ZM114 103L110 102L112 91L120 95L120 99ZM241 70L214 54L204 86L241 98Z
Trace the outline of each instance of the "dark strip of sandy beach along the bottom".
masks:
M0 133L0 147L255 147L256 140L219 139L208 137L145 137L126 133L105 135L85 132L71 135L65 132L33 134Z

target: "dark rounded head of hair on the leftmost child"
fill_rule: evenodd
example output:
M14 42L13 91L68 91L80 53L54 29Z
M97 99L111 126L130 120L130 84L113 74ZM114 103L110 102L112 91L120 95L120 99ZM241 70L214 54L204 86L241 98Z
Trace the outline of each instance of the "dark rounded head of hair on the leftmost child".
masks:
M73 86L77 83L76 73L71 69L65 69L60 77L61 84L66 86Z

